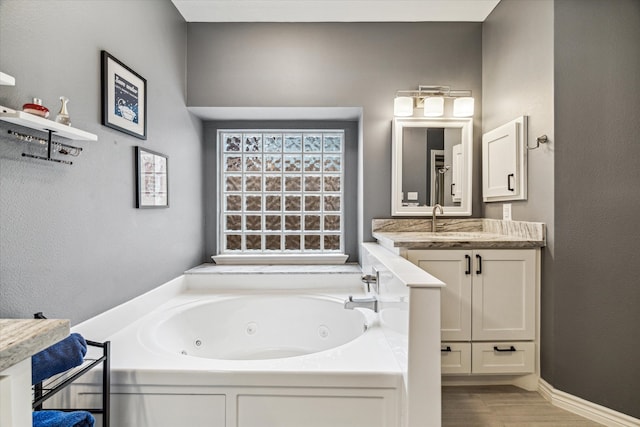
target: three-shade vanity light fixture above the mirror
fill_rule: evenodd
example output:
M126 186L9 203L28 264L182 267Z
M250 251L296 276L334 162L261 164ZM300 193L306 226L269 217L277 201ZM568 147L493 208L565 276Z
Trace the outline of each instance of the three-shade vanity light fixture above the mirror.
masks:
M393 101L393 114L413 116L413 109L422 108L425 117L442 117L445 99L453 99L454 117L473 116L474 100L470 90L453 90L449 86L419 85L417 90L399 90Z

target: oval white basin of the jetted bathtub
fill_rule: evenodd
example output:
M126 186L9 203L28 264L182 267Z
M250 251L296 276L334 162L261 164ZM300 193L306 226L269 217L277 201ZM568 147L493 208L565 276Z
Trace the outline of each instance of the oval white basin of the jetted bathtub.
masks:
M245 293L208 296L149 316L140 341L151 349L191 357L263 360L339 347L375 322L327 295Z

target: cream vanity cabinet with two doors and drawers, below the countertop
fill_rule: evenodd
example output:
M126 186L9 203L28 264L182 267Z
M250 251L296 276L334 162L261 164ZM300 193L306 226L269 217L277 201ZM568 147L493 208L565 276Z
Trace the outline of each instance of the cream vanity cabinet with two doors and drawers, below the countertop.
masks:
M446 283L443 374L535 369L538 249L417 249L407 259Z

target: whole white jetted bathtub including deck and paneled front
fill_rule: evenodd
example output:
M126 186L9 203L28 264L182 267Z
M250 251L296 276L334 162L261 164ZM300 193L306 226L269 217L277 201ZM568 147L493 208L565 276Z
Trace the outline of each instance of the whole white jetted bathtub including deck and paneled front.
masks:
M361 274L201 266L73 331L111 341L113 426L401 427L408 291L347 310ZM97 378L61 399L99 406Z

